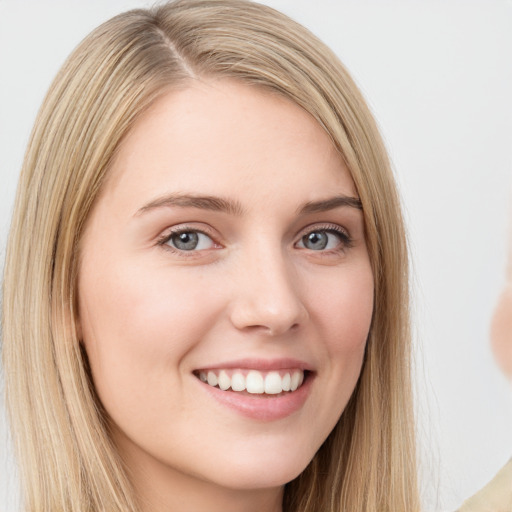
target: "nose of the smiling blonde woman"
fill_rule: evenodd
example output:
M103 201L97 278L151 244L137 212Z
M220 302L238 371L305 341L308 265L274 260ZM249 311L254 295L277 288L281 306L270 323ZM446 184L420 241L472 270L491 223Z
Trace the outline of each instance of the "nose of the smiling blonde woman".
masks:
M244 258L233 279L231 322L237 329L278 336L307 319L298 276L280 251Z

